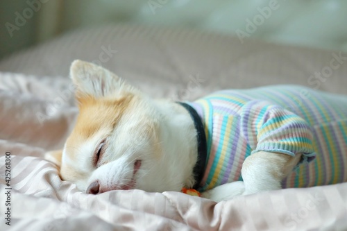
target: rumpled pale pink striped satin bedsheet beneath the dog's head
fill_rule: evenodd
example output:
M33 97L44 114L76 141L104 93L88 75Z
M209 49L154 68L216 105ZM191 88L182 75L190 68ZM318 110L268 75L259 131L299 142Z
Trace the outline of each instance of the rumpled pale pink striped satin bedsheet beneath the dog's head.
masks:
M1 230L347 230L347 183L221 203L173 191L96 196L78 191L60 180L56 165L42 159L46 149L62 146L76 116L72 96L52 109L62 97L56 92L69 84L67 78L0 75ZM5 219L6 152L10 226Z

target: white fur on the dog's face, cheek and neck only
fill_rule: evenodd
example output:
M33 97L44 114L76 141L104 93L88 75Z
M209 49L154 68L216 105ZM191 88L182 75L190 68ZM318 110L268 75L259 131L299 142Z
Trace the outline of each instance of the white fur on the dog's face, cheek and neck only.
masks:
M164 107L161 108L159 105ZM181 110L178 105L153 103L152 106L157 110L156 117L160 124L159 140L162 144L162 157L157 159L151 155L153 147L149 146L149 137L138 132L143 126L138 118L145 109L142 109L142 105L137 105L135 111L124 114L119 126L108 136L110 142L103 155L103 162L108 162L107 164L97 169L90 164L95 147L106 132L98 132L77 148L78 152L87 153L87 155L78 155L81 158L74 163L76 169L87 176L84 179L74 179L79 189L85 191L95 180L99 180L102 187L107 189L125 185L133 177L133 162L139 159L142 160L142 166L137 173L137 189L180 191L182 187L194 185L192 177L192 169L196 162L194 123L189 114L184 112L184 109ZM172 117L172 112L178 116ZM71 163L65 151L62 162Z

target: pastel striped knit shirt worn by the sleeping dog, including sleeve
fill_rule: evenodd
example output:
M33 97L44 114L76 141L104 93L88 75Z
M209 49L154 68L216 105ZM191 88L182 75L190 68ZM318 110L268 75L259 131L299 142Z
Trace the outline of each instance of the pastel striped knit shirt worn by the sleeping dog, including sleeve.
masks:
M283 187L347 181L347 96L286 85L223 90L189 105L208 143L201 191L242 180L242 163L257 151L303 153Z

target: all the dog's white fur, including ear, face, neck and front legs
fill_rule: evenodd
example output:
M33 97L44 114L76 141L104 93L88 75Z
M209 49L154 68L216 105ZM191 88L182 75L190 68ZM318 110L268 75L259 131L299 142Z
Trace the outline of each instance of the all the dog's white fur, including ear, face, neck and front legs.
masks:
M60 171L62 178L75 182L81 191L96 180L103 191L109 191L128 184L133 178L136 180L134 188L145 191L180 191L182 187L194 185L196 130L185 108L171 101L150 99L121 82L115 74L90 63L75 61L71 65L71 78L80 97L91 95L96 99L112 100L124 92L131 92L134 98L115 128L106 126L108 121L105 121L105 127L101 126L93 137L65 146ZM146 128L153 124L156 134L146 133ZM158 150L153 145L154 137L157 137L160 153L155 153ZM96 167L92 164L94 151L103 139L108 145L100 166ZM280 189L280 180L289 173L287 169L292 169L298 161L298 158L287 160L287 157L274 153L255 154L244 162L244 182L221 185L203 193L203 196L219 201ZM70 155L74 155L76 160ZM274 155L277 160L271 159ZM141 160L142 164L135 173L136 160ZM273 174L276 171L279 174Z

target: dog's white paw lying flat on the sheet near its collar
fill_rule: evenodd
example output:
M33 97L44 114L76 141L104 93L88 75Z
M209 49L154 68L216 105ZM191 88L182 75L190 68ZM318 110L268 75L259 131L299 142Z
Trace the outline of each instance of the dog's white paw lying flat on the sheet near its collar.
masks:
M220 185L208 191L204 191L201 194L201 196L203 198L208 198L210 200L220 202L222 200L230 200L232 198L235 198L236 196L242 196L244 192L244 182L235 181L224 185Z

